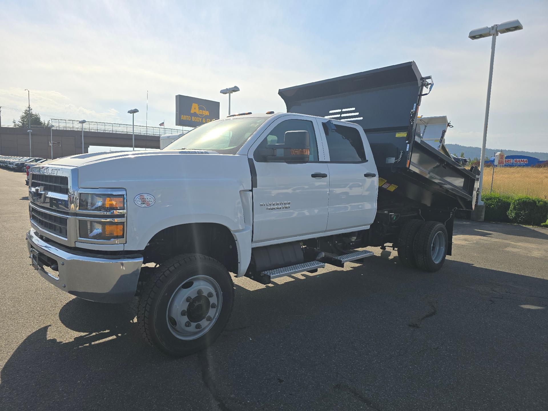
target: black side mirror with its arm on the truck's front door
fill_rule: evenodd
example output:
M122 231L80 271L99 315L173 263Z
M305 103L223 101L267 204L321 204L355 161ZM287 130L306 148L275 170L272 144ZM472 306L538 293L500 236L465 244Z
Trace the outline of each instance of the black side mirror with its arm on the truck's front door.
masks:
M310 157L310 136L305 130L284 134L281 144L267 144L259 154L268 162L307 163Z

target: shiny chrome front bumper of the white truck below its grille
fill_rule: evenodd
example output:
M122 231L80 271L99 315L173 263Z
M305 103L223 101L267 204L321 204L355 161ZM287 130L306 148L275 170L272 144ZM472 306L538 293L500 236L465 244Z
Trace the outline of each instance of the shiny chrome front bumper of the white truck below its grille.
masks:
M43 241L33 229L28 231L26 239L32 266L55 287L91 301L124 302L134 297L142 255L76 252ZM58 271L52 270L55 265Z

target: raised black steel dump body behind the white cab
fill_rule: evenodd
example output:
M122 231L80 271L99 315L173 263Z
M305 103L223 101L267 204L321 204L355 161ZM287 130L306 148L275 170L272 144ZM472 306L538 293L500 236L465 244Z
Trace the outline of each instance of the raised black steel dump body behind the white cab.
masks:
M284 88L278 94L288 112L351 121L363 127L379 172L379 210L425 206L471 210L476 200L476 174L415 137L416 118L429 79L423 78L411 61ZM350 113L352 116L344 116Z

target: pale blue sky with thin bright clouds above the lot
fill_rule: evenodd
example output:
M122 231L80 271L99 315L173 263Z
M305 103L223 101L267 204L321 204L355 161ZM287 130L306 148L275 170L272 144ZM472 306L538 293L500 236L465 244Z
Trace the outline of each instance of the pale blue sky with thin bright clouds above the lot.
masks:
M2 123L42 118L175 128L175 95L232 112L286 111L278 89L414 60L435 86L420 114L447 115L446 142L481 146L490 39L496 41L487 147L548 151L547 1L0 0ZM149 92L148 120L146 94ZM19 111L16 111L19 110Z

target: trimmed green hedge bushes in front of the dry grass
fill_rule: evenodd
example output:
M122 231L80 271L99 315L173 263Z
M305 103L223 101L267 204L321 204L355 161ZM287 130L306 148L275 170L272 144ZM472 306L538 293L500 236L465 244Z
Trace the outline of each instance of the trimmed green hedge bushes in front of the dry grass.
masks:
M487 221L541 225L548 220L548 201L542 198L490 193L482 200Z

